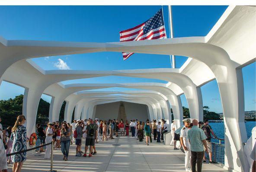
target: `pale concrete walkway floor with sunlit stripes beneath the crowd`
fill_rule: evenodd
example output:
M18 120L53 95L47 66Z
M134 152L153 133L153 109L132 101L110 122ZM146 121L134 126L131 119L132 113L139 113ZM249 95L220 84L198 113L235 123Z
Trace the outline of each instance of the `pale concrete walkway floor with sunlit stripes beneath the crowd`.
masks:
M96 150L97 155L93 157L75 157L75 145L70 145L68 161L62 160L61 150L54 150L53 169L58 172L185 172L184 154L156 141L146 146L145 142L123 136L99 142ZM22 172L49 170L50 161L43 158L44 153L29 156ZM8 167L10 172L12 165ZM221 166L212 164L203 164L203 171L227 172Z

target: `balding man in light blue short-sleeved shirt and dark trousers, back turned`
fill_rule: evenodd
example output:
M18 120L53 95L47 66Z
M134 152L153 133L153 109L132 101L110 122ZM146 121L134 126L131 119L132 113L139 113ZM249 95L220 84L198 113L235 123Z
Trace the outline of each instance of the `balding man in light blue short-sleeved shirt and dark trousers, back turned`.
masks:
M195 163L197 163L197 172L202 172L202 163L204 157L204 146L205 151L208 153L207 143L206 143L206 135L205 132L198 128L198 120L194 119L192 121L193 126L188 131L188 139L190 143L191 150L191 167L192 172L195 171Z

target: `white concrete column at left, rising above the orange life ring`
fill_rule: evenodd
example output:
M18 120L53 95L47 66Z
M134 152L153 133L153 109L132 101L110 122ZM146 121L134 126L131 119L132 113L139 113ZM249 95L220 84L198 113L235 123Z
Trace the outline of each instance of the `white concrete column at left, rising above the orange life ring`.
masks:
M26 117L27 136L35 132L35 121L42 90L26 88L23 96L22 113Z

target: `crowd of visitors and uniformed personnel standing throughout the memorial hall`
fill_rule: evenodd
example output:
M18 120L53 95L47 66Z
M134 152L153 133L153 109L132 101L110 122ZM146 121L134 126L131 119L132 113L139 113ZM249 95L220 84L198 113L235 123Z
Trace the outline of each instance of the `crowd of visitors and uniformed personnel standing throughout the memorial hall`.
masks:
M1 118L0 118L1 122ZM0 172L7 172L7 164L13 163L13 172L20 172L23 162L26 161L26 152L14 154L7 158L6 154L16 153L19 151L25 151L27 149L27 137L26 127L24 123L26 117L19 115L13 127L7 127L3 130L0 123ZM174 150L181 149L185 152L185 169L186 172L201 172L202 163L206 163L205 152L209 154L209 163L216 163L212 160L212 145L211 137L217 138L208 120L199 122L198 120L192 120L186 118L182 120L184 126L176 129L175 121L170 126L172 135L171 145L174 146ZM152 142L152 135L154 141L161 142L164 140L164 133L168 131L168 125L165 120L157 122L157 120L146 120L146 122L138 120L99 120L99 119L85 119L74 120L73 123L53 122L48 123L44 129L40 124L36 124L36 134L40 140L39 152L45 152L45 159L51 158L51 149L61 150L63 154L63 160L67 161L69 156L70 144L76 145L76 157L87 157L87 151L89 147L88 157L96 155L95 143L99 141L108 141L121 136L129 136L136 138L138 141L143 141L148 146L149 142ZM211 136L212 135L212 136ZM101 136L101 137L100 137ZM84 152L81 150L82 140L85 139ZM180 141L179 147L177 147L177 141ZM49 144L52 143L52 144ZM43 145L48 144L46 149ZM255 163L254 163L255 164ZM196 168L197 166L197 168ZM255 166L255 165L254 165Z

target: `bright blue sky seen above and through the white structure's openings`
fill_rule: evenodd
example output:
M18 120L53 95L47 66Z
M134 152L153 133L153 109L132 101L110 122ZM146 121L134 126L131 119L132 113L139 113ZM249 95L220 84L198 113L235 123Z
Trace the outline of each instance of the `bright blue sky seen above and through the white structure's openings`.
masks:
M8 40L54 40L80 42L117 42L119 31L145 22L161 6L0 6L0 36ZM227 6L173 6L174 37L205 36L221 17ZM167 37L168 10L163 6ZM180 68L186 57L176 57ZM167 55L134 54L122 60L120 52L99 52L82 55L62 55L33 59L44 70L117 70L138 68L170 68ZM243 68L245 110L255 110L255 63ZM131 77L100 77L64 81L67 83L130 83L161 82ZM7 91L6 91L7 90ZM109 89L108 89L109 90ZM127 90L114 88L113 90ZM23 94L24 89L3 82L0 99ZM216 81L202 86L203 103L211 111L222 112ZM43 95L50 101L50 97ZM181 96L187 107L186 98Z

